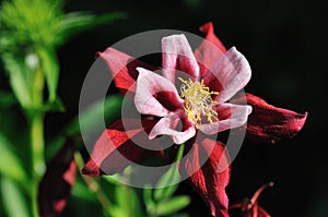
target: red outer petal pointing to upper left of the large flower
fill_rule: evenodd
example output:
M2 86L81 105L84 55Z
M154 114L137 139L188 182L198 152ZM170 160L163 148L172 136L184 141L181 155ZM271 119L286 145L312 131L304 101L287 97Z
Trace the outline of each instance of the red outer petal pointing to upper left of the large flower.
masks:
M124 94L128 91L132 93L136 92L136 86L133 84L138 77L137 67L154 69L153 67L110 47L104 52L97 52L97 56L106 62L108 70L114 77L115 86Z

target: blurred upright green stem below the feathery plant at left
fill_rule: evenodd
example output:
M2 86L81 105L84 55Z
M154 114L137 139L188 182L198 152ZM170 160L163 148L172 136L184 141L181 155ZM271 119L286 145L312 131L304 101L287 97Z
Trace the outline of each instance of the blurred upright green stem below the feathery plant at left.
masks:
M45 141L44 141L44 112L39 111L31 119L31 150L32 150L32 208L33 216L38 216L37 192L39 181L45 172Z

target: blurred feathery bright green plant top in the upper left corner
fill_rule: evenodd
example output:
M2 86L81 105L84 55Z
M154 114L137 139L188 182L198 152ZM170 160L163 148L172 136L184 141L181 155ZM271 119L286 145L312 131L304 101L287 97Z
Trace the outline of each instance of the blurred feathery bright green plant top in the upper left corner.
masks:
M48 87L49 103L52 105L56 100L59 77L56 49L59 45L86 28L126 17L122 12L98 16L90 12L63 13L62 7L61 0L2 2L1 58L13 92L25 108L42 106L39 97L35 95L42 92L44 77Z

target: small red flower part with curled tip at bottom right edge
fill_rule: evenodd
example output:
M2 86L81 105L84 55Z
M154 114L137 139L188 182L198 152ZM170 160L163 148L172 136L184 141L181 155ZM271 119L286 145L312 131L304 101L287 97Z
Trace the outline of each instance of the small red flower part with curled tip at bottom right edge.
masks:
M261 185L251 198L245 198L243 203L236 203L230 206L230 209L239 208L243 217L270 217L270 215L258 205L258 197L265 189L273 186L273 182Z

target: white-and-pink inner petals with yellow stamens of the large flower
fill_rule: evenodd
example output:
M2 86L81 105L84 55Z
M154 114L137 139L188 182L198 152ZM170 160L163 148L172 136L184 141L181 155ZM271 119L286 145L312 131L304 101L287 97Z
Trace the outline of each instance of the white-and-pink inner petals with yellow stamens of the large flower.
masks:
M212 135L246 122L251 107L226 103L250 79L250 68L242 53L230 49L218 60L213 71L202 75L184 35L163 38L162 49L163 76L137 68L137 110L162 118L150 132L150 140L164 134L181 144L194 137L197 130ZM176 71L190 77L176 77ZM177 85L180 93L175 86L176 79L180 82ZM175 130L179 121L181 131Z

